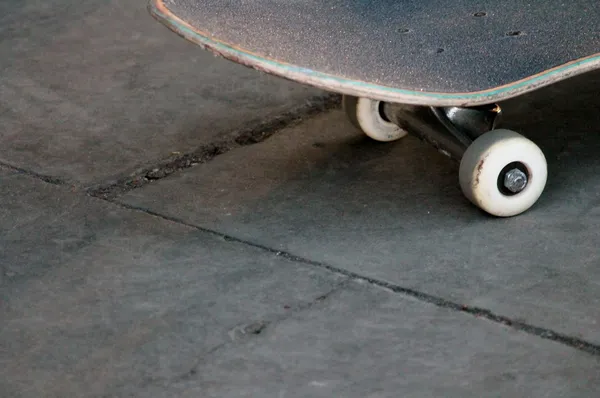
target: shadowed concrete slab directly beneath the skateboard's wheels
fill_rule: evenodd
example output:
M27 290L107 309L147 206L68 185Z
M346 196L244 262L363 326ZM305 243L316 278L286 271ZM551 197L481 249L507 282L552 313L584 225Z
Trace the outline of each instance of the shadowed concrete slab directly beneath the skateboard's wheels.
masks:
M471 206L430 147L373 143L338 111L121 200L600 343L599 76L506 104L550 167L516 218Z

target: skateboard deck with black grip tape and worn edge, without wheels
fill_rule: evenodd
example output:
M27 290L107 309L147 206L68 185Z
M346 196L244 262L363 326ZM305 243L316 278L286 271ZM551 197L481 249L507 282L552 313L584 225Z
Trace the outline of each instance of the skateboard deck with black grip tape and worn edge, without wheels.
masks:
M388 102L484 105L600 68L597 0L150 0L149 9L234 62Z

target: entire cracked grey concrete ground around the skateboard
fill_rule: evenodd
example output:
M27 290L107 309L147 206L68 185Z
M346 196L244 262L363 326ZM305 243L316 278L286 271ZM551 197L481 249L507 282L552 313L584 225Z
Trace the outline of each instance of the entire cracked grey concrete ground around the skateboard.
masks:
M494 219L145 6L0 3L0 396L598 396L600 74L503 104L550 180Z

